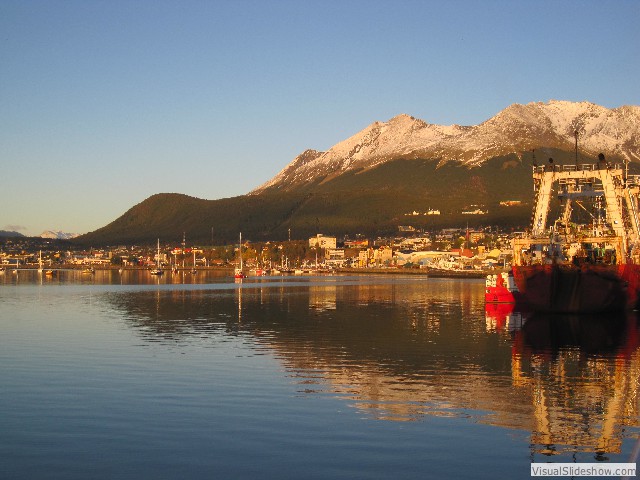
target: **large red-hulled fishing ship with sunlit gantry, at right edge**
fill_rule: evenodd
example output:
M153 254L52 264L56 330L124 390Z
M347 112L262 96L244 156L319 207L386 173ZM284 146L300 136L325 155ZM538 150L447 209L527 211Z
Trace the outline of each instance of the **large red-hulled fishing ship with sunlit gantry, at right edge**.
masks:
M531 230L512 240L514 301L538 312L637 308L640 176L600 154L595 164L534 165L533 181ZM550 222L554 192L559 214Z

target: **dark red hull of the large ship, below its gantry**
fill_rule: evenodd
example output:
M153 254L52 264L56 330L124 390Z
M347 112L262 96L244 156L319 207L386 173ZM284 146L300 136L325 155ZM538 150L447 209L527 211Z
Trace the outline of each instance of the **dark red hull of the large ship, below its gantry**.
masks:
M539 312L600 313L637 307L638 265L513 267L522 302Z

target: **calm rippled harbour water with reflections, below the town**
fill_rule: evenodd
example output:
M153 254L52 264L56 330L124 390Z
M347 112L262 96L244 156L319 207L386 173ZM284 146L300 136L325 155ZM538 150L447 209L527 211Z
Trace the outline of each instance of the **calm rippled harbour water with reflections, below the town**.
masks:
M635 316L209 275L0 276L0 478L530 478L640 435Z

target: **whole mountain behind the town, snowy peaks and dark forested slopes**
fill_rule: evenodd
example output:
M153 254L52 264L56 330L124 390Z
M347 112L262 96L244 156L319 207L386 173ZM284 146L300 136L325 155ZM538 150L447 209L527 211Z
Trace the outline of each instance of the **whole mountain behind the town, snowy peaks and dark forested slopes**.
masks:
M553 157L628 160L640 171L640 107L588 102L511 105L476 126L428 124L409 115L375 122L326 152L306 150L247 195L201 200L157 194L78 237L93 244L233 242L416 228L529 223L531 165ZM535 158L534 158L535 151ZM537 158L537 160L536 160ZM215 193L215 192L213 192ZM439 214L438 214L439 213Z

